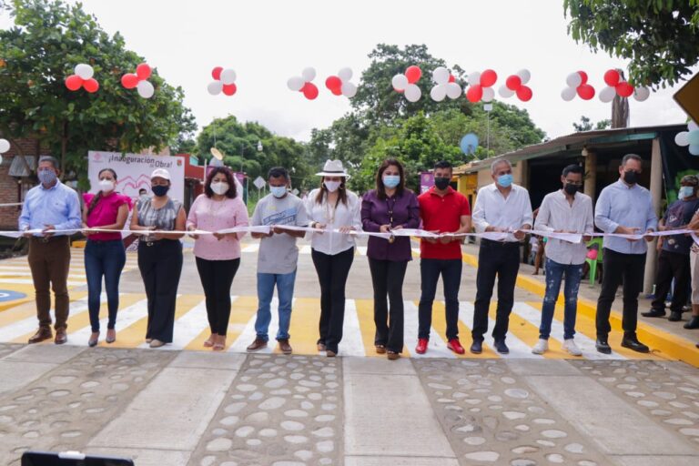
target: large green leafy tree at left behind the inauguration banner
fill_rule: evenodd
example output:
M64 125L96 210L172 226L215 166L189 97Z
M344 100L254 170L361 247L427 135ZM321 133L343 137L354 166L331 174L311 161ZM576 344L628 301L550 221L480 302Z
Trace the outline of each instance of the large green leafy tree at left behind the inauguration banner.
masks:
M0 31L0 132L8 139L38 137L59 157L64 172L86 187L88 150L137 152L174 144L196 130L183 91L157 69L150 99L126 90L121 76L144 58L109 36L80 4L15 0L6 7L15 25ZM64 80L79 63L95 69L96 94L69 91Z

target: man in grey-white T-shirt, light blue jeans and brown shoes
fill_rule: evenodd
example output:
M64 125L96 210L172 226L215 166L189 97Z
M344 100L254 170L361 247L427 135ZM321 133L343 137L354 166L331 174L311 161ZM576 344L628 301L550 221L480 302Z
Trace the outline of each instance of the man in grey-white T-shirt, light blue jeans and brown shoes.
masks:
M289 172L283 167L273 167L268 172L269 194L259 199L252 214L253 226L269 226L269 233L252 233L261 238L258 250L258 316L255 320L255 340L248 351L267 348L269 322L272 315L269 305L277 287L279 295L279 330L277 341L284 354L291 354L289 325L291 302L294 297L299 248L296 239L305 231L284 228L308 227L309 217L303 201L289 192Z

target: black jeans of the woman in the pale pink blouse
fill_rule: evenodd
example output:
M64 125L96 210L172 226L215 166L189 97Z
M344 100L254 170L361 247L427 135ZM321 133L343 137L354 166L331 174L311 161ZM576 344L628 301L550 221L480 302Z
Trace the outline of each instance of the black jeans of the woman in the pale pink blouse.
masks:
M197 270L207 297L208 326L213 335L226 336L230 319L230 286L240 267L240 258L208 260L197 258Z

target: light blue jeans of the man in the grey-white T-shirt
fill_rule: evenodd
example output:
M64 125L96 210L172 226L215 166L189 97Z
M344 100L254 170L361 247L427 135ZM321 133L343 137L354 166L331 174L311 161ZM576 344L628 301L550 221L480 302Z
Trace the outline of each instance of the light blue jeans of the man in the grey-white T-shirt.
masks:
M269 304L274 296L274 285L277 285L279 297L279 330L277 339L289 339L289 324L291 322L291 299L294 298L294 283L296 270L291 273L258 273L258 317L255 319L255 332L258 339L269 339L268 329L272 314Z

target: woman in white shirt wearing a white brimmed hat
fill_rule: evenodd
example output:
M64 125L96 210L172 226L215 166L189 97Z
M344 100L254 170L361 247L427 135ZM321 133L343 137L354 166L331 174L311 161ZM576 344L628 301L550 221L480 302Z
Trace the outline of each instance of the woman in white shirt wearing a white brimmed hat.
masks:
M347 173L339 160L328 160L320 187L306 200L310 227L311 257L320 283L319 351L329 357L338 354L345 319L345 284L354 260L354 237L350 231L361 229L360 199L349 191ZM338 230L338 231L332 231Z

